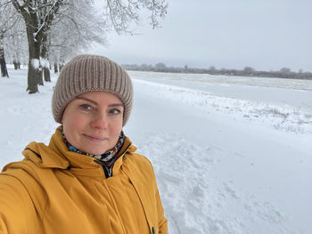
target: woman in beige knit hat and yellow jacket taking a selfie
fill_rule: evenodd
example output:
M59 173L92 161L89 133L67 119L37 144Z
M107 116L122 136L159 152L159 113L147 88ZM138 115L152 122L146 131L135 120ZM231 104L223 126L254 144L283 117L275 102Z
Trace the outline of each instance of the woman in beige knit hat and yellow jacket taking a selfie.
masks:
M60 125L0 173L0 233L168 233L150 161L122 132L133 88L102 56L79 55L53 91Z

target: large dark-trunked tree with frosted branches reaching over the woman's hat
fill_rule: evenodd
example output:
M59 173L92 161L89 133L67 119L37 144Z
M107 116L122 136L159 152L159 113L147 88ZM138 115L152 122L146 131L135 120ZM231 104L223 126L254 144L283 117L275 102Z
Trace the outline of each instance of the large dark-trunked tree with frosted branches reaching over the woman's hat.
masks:
M67 56L78 52L80 48L86 48L90 42L104 43L104 36L100 36L100 32L109 25L119 34L132 34L133 30L129 25L133 21L139 22L139 12L142 9L152 12L152 28L160 27L159 19L165 16L168 7L165 0L106 0L106 11L102 16L102 24L99 24L99 18L94 17L96 11L90 11L94 5L93 0L10 1L25 23L29 44L29 93L37 93L37 85L43 84L40 64L46 71L45 80L48 81L49 60L63 63ZM64 25L69 28L60 32ZM103 35L106 34L103 32Z

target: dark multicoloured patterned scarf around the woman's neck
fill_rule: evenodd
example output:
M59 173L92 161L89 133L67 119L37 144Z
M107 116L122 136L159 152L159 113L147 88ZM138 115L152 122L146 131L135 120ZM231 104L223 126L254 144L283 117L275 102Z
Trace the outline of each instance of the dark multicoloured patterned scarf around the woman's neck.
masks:
M119 152L119 149L121 149L124 140L125 140L125 134L121 131L119 135L119 140L117 141L117 144L109 151L103 153L102 155L93 155L90 153L87 153L84 150L77 149L76 147L72 146L69 141L67 141L64 131L62 130L62 139L67 145L67 148L70 149L70 151L76 152L78 154L86 155L89 157L94 157L97 159L101 165L103 165L103 169L105 171L106 176L111 177L112 175L112 166L114 165L115 161L117 160L117 153Z

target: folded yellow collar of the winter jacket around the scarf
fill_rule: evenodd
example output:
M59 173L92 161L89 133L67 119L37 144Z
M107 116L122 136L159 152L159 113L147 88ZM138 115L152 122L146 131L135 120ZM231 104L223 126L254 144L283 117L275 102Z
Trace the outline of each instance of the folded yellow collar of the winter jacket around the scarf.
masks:
M119 154L126 152L135 152L136 148L132 142L125 136L125 141ZM59 168L67 169L69 166L74 168L95 168L100 165L94 162L93 157L81 155L70 151L62 140L62 126L59 126L53 133L50 143L46 146L42 142L30 142L29 145L22 151L24 157L29 158L40 167L44 168ZM121 166L121 162L116 162L116 166ZM115 167L115 165L114 165Z

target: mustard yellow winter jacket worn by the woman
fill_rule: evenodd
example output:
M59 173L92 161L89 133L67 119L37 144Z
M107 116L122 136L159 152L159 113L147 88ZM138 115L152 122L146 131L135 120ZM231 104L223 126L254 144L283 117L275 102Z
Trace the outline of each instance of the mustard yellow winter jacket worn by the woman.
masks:
M125 137L112 177L67 149L61 128L0 173L0 234L168 233L150 161Z

